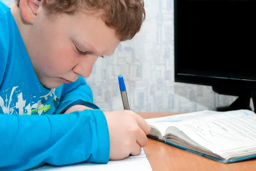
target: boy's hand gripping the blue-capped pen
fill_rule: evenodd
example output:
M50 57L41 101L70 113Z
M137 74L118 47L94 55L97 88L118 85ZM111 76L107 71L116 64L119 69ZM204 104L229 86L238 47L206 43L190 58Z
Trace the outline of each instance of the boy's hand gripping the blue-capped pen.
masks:
M124 159L138 155L150 133L148 123L130 110L105 112L110 136L110 160Z

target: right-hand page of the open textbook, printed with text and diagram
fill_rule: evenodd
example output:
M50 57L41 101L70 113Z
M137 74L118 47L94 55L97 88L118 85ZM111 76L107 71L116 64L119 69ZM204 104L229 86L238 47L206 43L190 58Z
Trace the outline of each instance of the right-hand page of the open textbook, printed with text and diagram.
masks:
M255 114L175 127L213 153L256 146Z

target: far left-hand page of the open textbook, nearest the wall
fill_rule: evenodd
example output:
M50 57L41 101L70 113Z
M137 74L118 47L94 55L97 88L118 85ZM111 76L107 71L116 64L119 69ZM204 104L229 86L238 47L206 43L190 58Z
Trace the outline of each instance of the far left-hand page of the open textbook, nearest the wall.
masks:
M169 133L166 132L166 129L169 126L207 122L216 119L233 118L247 115L255 115L255 113L250 110L233 110L227 112L203 110L192 113L184 113L160 118L146 119L146 121L148 122L149 125L153 125L158 130L160 130L162 135L165 135L166 133Z

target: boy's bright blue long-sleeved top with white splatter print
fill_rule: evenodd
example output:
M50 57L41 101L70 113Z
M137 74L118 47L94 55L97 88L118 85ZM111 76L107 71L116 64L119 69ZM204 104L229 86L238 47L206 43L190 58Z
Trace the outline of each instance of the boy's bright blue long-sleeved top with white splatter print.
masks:
M94 110L62 114L75 104ZM109 151L105 116L84 78L43 87L10 8L0 1L0 170L107 163Z

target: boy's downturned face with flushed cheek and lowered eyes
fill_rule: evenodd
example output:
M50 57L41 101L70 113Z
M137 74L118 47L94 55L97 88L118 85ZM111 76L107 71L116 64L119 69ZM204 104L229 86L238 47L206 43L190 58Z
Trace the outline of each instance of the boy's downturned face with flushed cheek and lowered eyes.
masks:
M55 88L88 77L96 59L111 55L120 43L100 17L59 15L48 19L39 6L35 20L23 31L34 70L44 87Z

